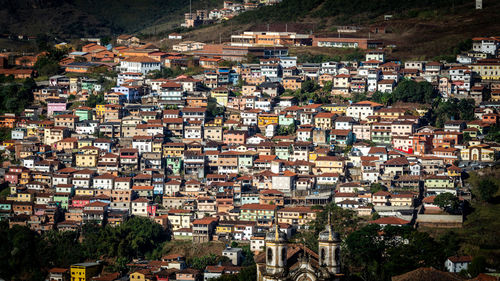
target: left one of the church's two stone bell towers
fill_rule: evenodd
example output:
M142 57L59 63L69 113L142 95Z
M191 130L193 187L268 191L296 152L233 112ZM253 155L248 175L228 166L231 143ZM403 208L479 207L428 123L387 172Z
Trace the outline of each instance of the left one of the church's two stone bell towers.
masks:
M274 229L266 235L266 280L282 280L278 276L286 273L286 234L279 230L278 215L274 213Z

